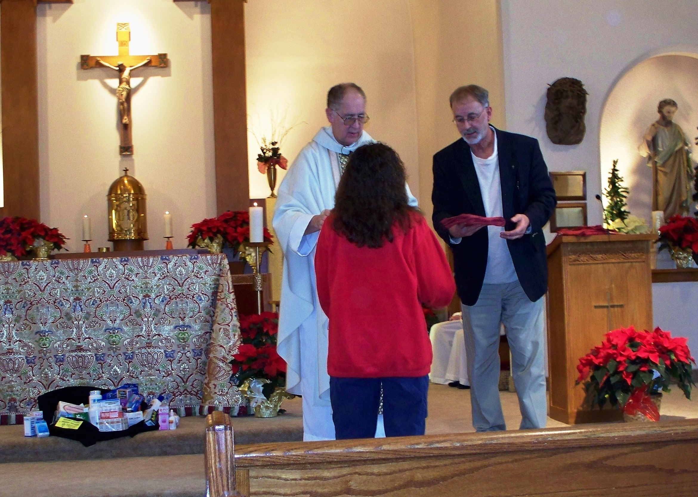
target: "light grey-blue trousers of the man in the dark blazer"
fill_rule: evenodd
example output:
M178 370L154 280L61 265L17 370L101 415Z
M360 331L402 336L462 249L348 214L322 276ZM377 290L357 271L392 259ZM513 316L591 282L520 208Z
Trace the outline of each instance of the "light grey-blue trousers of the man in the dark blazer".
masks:
M530 302L519 281L482 285L473 306L462 306L468 357L470 404L477 431L507 429L499 399L499 332L503 323L512 352L512 376L519 396L520 429L544 428L545 321L543 297Z

